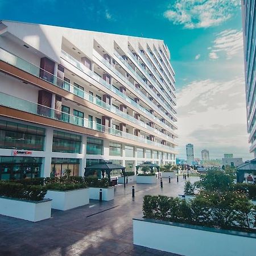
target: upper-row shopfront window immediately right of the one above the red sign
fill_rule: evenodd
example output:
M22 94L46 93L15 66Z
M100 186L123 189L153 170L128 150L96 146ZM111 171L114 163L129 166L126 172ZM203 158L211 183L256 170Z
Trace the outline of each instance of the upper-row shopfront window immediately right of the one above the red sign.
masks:
M81 153L82 137L63 131L53 131L53 152Z

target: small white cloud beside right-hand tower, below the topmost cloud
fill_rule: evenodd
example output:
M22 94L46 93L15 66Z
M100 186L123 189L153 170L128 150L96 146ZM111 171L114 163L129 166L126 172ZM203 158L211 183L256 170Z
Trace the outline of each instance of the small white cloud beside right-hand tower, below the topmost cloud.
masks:
M231 59L233 56L241 55L243 52L243 35L240 30L224 30L217 34L213 42L213 47L209 54L214 56L216 52L225 54L226 59ZM210 57L212 59L212 57Z

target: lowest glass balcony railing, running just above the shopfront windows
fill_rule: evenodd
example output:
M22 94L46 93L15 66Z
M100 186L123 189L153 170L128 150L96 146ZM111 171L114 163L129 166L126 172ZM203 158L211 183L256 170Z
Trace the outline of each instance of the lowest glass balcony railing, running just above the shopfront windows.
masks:
M17 109L23 112L40 115L42 117L55 119L57 121L71 123L72 125L77 125L77 126L85 127L92 130L101 131L102 133L108 133L118 137L128 138L133 141L140 141L146 144L151 144L158 147L164 147L168 150L173 149L172 147L168 147L153 141L148 141L147 139L144 139L142 137L125 133L123 131L113 129L111 127L107 127L96 122L90 122L87 119L76 117L75 115L61 112L60 110L48 108L47 106L36 104L35 102L22 100L20 98L11 96L6 93L0 93L0 105L6 106L7 108L11 108L11 109Z

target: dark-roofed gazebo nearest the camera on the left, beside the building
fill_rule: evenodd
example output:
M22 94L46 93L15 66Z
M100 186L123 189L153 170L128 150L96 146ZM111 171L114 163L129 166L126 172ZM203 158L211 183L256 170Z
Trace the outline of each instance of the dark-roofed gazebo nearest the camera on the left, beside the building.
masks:
M119 164L112 163L112 162L110 162L108 160L102 160L100 163L93 164L93 166L85 167L84 168L84 170L85 170L84 176L86 174L86 171L100 170L103 177L105 176L104 173L106 172L106 174L108 175L109 184L110 184L110 172L112 170L119 170L119 169L122 170L123 176L125 178L125 167L120 166Z

